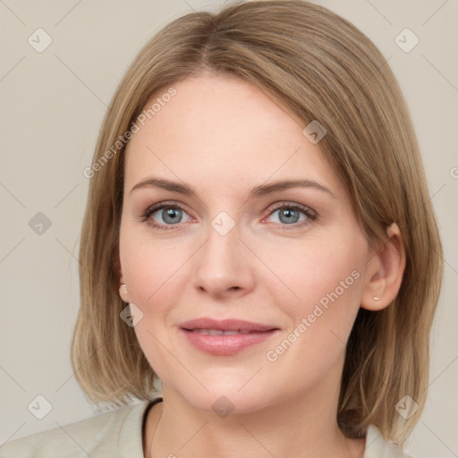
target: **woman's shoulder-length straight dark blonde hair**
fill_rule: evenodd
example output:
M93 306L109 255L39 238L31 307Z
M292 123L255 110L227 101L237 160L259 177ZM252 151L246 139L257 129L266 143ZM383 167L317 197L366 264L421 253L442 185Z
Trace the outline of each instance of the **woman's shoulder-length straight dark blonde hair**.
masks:
M134 329L120 319L126 306L118 295L120 139L153 95L204 72L256 84L304 126L318 120L327 129L319 146L369 239L384 242L386 228L399 225L407 257L403 283L386 309L359 311L347 344L337 420L348 437L360 437L374 424L402 444L427 394L429 330L443 270L437 222L411 119L386 60L350 22L301 0L187 14L157 33L125 73L89 174L81 310L72 340L75 377L92 402L122 405L155 393L155 373ZM420 404L409 420L395 410L404 395Z

